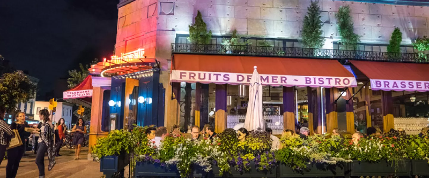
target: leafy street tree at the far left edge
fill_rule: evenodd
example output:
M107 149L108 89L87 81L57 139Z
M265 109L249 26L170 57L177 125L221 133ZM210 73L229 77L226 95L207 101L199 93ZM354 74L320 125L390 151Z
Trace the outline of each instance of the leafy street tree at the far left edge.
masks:
M37 85L22 71L5 73L0 78L0 105L6 107L8 113L13 113L18 110L18 103L34 98L36 90Z

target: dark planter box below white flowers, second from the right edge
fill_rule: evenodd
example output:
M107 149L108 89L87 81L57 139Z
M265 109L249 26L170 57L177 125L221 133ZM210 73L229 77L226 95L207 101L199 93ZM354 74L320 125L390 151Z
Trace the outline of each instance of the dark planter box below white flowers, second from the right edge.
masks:
M380 162L380 163L370 163L367 161L357 161L353 160L350 163L350 175L351 176L372 176L372 175L397 175L397 176L410 176L411 175L411 161L410 160L400 160L398 165L392 162Z

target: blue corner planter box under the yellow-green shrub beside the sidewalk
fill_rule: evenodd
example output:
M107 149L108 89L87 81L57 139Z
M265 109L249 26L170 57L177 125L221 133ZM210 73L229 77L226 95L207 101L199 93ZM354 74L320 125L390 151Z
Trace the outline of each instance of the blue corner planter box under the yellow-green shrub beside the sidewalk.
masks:
M103 172L106 178L109 178L116 172L123 171L128 164L130 164L130 154L103 156L100 159L100 172Z

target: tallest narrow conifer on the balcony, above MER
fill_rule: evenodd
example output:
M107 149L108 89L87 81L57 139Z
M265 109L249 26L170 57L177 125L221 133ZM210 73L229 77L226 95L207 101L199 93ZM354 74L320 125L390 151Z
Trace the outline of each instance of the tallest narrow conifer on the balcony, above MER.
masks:
M320 21L319 0L311 1L308 12L302 21L302 45L308 48L321 48L325 42L322 37L322 22Z

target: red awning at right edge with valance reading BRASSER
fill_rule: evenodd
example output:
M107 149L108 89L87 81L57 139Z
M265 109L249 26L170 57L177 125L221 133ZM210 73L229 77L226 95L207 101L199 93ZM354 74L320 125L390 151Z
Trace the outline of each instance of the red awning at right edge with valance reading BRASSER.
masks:
M429 64L350 62L368 76L372 90L429 91Z

